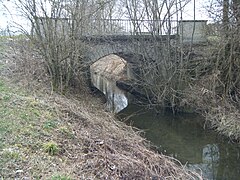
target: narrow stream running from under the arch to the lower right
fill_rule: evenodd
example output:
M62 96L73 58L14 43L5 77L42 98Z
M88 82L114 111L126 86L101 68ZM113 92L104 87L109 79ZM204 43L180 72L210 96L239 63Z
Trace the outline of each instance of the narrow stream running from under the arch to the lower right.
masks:
M240 145L232 144L213 130L204 130L204 119L197 114L156 115L153 110L133 105L129 94L104 74L105 69L102 73L98 71L92 68L91 80L105 95L106 109L143 130L144 137L159 153L175 157L187 168L201 173L204 179L240 179Z

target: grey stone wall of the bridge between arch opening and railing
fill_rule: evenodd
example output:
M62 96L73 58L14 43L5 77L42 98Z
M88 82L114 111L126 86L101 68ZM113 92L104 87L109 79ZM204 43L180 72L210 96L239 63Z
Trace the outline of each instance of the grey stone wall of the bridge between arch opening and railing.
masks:
M168 43L174 44L177 38L178 35L105 35L85 36L81 40L88 47L86 55L91 62L109 54L116 54L130 63L138 63L131 62L131 56L147 55L149 60L155 59L156 51L166 48Z

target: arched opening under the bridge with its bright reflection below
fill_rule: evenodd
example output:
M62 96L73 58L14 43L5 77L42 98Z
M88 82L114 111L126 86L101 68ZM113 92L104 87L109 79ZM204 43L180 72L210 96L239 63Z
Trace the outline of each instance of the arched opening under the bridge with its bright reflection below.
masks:
M110 54L100 58L90 66L92 84L103 92L107 99L107 109L117 113L127 107L126 92L116 86L120 79L127 78L127 62Z

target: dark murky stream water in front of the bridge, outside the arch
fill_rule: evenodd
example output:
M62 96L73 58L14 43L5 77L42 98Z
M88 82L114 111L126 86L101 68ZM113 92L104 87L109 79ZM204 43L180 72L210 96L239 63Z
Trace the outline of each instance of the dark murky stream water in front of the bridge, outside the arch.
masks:
M137 111L142 113L132 116L127 123L144 129L146 138L159 152L176 157L190 169L201 172L205 179L240 179L240 147L203 130L201 117L170 113L156 116L153 111L143 112L133 105L119 115L124 118Z

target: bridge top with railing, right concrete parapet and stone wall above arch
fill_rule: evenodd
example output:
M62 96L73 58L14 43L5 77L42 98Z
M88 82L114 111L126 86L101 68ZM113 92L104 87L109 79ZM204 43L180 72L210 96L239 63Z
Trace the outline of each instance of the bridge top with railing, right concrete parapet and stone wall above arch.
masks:
M134 66L143 60L156 63L167 51L176 48L176 43L206 42L206 21L103 19L93 22L81 36L88 47L86 57L90 64L109 54L116 54Z

